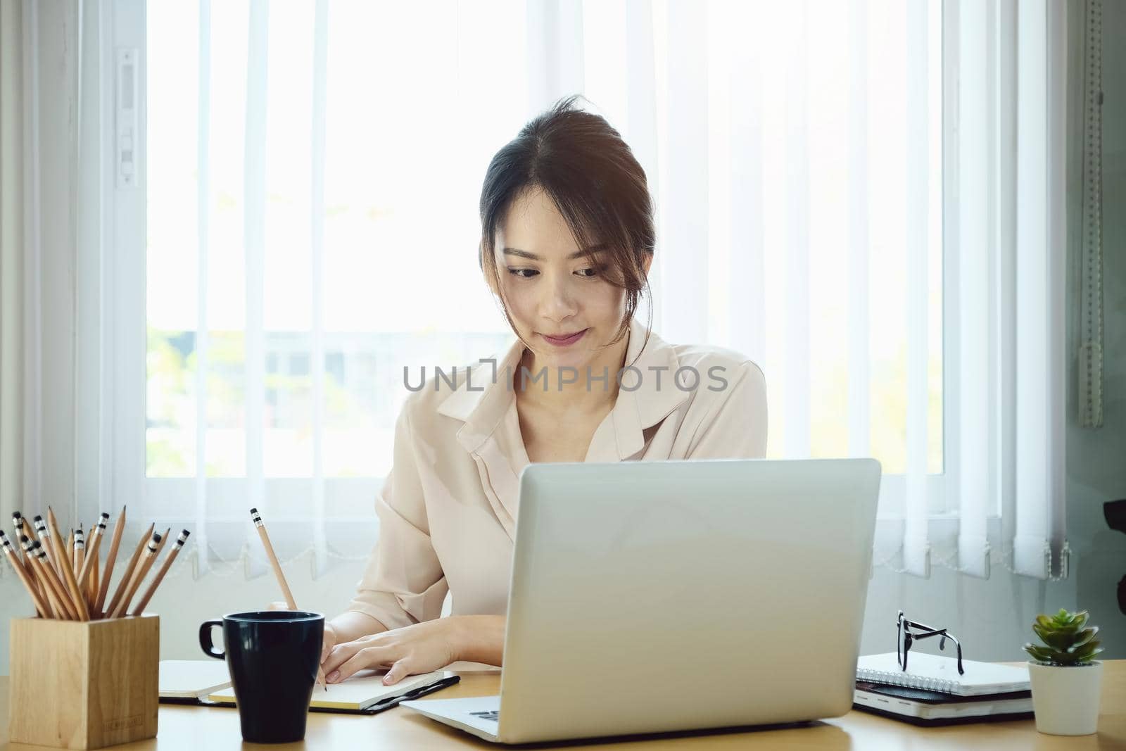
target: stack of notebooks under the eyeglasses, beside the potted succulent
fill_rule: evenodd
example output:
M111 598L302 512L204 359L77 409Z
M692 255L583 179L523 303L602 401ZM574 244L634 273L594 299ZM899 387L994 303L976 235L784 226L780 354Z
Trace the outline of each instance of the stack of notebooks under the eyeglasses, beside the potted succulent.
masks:
M856 667L857 709L915 725L1026 719L1033 716L1028 669L911 652L909 670L895 653L860 658Z

